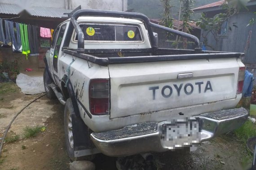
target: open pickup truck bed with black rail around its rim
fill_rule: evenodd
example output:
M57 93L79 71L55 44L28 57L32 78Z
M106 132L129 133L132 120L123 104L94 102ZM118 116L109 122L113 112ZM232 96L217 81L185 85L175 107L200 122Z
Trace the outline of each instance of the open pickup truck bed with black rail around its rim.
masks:
M63 48L64 53L86 59L101 66L109 64L144 63L157 61L175 61L188 59L218 59L218 58L239 58L242 53L220 52L220 51L196 51L196 50L175 50L165 48L151 49L109 49L109 50L84 50ZM121 52L124 57L120 57Z

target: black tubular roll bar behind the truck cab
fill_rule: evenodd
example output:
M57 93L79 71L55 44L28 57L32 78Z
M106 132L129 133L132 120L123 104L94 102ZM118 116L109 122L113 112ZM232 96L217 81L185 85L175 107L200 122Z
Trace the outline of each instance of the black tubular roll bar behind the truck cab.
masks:
M79 24L77 23L77 18L80 16L103 16L103 17L127 17L127 18L139 18L141 20L143 20L146 24L147 30L148 30L148 34L149 34L149 38L150 38L150 43L152 47L156 47L156 42L154 39L154 34L153 34L153 30L152 27L156 27L162 30L165 30L169 33L172 34L177 34L180 35L182 37L185 38L190 38L192 40L194 40L194 43L196 44L196 48L195 49L200 49L200 42L199 39L197 37L195 37L194 35L191 34L187 34L178 30L173 30L164 26L160 26L154 23L151 23L149 18L142 14L142 13L130 13L130 12L119 12L119 11L106 11L106 10L93 10L93 9L81 9L76 11L72 17L71 17L71 23L68 26L68 30L66 33L66 38L64 40L64 44L63 47L68 47L70 40L71 40L71 36L73 33L73 29L75 28L75 32L78 35L78 47L77 47L77 52L83 52L84 51L84 33L82 31L82 29L80 28Z

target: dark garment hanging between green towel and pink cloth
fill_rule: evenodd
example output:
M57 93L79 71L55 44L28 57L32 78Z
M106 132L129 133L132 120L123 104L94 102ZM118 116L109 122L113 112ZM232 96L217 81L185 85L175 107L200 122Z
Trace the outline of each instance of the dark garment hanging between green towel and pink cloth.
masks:
M27 26L30 56L39 55L38 37L35 26Z

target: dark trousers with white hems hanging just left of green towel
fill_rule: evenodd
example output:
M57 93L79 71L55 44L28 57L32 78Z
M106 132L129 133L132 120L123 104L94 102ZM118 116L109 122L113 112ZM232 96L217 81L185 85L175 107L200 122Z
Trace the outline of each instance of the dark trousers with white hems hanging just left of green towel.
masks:
M20 36L20 27L18 23L15 23L16 31L14 30L13 22L8 21L11 40L13 44L13 52L22 52L22 45L21 45L21 36ZM16 32L16 34L15 34Z

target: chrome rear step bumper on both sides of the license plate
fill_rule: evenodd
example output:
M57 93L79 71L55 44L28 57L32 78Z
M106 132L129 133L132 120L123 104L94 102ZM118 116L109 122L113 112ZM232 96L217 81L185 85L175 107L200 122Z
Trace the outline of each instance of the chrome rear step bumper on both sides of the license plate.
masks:
M244 108L221 110L206 113L194 118L199 122L200 141L210 140L215 136L232 131L246 121L248 112ZM140 123L122 129L92 133L93 143L108 156L127 156L143 152L163 152L170 150L161 143L163 122ZM195 143L194 143L195 144Z

